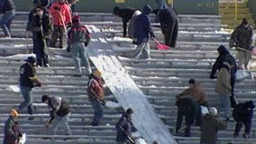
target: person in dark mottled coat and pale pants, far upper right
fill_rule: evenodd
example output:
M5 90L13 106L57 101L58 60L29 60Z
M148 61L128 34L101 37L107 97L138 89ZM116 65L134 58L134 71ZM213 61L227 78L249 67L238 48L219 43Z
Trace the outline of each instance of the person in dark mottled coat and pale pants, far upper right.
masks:
M239 68L249 69L251 60L251 50L253 47L253 28L246 18L242 19L242 23L237 26L230 37L230 48L235 47L238 52Z

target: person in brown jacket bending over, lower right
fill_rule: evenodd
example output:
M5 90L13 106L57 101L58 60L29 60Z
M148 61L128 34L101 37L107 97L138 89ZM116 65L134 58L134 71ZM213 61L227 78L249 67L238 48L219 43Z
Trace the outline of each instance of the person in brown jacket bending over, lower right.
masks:
M192 100L194 100L196 103L200 105L198 106L198 109L197 109L196 126L201 126L201 121L202 121L201 106L208 107L206 93L203 90L202 85L200 85L199 82L196 82L195 79L189 79L188 85L189 85L189 88L185 89L182 93L178 94L176 98L179 99L182 97L191 97Z

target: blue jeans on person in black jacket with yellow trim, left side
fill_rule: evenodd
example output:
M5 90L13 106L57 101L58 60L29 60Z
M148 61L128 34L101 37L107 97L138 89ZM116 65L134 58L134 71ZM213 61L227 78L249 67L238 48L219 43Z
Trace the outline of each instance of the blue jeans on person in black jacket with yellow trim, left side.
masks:
M18 110L21 112L23 108L27 107L29 114L33 113L33 99L32 99L32 87L20 85L21 93L23 94L24 101L20 104Z

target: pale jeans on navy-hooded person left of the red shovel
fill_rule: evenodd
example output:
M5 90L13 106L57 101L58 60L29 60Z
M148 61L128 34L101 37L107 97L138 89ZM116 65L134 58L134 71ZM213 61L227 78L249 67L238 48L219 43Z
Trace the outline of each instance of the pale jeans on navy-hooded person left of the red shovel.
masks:
M150 43L142 42L141 45L138 45L135 49L135 58L151 58Z

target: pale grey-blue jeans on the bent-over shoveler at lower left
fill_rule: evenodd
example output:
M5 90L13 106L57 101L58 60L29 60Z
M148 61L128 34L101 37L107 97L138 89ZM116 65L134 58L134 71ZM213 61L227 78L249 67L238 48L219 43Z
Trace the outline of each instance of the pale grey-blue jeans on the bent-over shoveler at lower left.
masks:
M58 115L55 117L50 130L51 132L53 132L54 135L56 135L56 132L59 129L59 126L62 126L61 128L65 130L66 135L72 135L71 130L69 128L69 123L68 123L70 114L71 113L69 112L63 117L59 117Z

